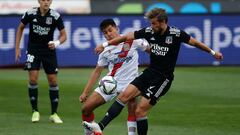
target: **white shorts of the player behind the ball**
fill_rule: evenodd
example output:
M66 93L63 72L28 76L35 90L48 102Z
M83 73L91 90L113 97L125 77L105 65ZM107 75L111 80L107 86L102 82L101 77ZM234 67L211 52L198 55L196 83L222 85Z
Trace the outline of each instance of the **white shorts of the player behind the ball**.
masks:
M117 91L111 95L107 95L105 94L99 87L97 87L94 91L97 92L98 94L100 94L103 99L108 102L110 100L112 100L114 97L116 97L119 93L123 92L128 84L130 83L131 81L125 81L125 82L118 82L117 84Z

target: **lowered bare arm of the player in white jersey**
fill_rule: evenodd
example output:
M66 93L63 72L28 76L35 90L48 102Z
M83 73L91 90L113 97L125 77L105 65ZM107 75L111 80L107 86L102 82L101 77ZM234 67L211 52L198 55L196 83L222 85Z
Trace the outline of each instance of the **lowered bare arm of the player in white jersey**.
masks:
M88 94L92 90L92 87L96 84L98 78L100 77L104 67L102 66L96 66L96 68L93 70L82 94L79 96L79 101L81 103L85 102L87 100Z

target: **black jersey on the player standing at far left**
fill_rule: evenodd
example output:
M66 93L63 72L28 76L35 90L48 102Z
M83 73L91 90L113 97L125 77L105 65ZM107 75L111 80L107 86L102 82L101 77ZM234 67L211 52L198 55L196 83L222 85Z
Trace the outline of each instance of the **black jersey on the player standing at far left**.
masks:
M28 49L47 49L48 42L53 40L54 30L64 28L60 14L53 9L41 16L40 8L32 8L23 15L21 22L24 25L29 23Z

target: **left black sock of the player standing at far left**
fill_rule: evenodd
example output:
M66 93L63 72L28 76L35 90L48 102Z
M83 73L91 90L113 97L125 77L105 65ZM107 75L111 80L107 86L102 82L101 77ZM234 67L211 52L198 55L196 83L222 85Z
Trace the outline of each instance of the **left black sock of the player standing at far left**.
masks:
M28 85L28 96L32 106L32 111L38 111L38 85L30 84Z

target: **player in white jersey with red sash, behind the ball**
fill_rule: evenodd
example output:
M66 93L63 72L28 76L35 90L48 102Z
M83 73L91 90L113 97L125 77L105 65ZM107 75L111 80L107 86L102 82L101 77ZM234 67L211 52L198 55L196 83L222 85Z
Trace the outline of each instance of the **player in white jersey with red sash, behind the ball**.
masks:
M118 27L113 19L103 20L100 24L100 29L106 40L111 40L120 36ZM79 97L80 102L83 103L83 121L94 121L94 109L113 99L121 93L135 77L138 76L138 49L149 52L148 42L142 39L127 41L116 46L106 47L106 49L99 55L97 66L92 72L88 83ZM113 76L118 82L116 93L106 95L99 89L99 87L97 87L88 97L92 87L99 79L105 66L108 66L109 69L107 75ZM136 101L133 99L128 103L128 135L134 135L136 132L135 109ZM93 134L88 129L84 129L84 132L85 135Z

